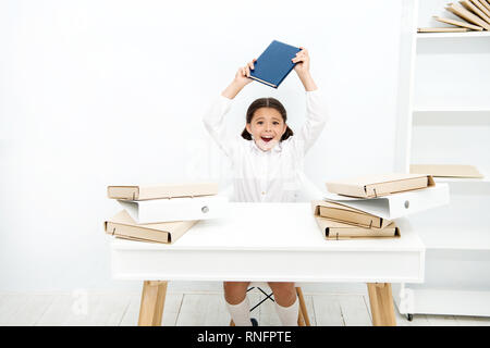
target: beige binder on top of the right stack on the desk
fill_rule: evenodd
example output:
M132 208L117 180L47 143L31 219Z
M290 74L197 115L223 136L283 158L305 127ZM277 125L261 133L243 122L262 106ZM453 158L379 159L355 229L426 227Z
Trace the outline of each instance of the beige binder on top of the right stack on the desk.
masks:
M389 173L330 182L327 183L327 190L343 196L372 198L434 185L430 175Z

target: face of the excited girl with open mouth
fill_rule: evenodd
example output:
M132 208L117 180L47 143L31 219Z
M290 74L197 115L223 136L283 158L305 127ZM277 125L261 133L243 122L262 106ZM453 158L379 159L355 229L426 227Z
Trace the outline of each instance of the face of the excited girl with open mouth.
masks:
M287 126L282 120L281 113L273 108L257 109L246 128L252 134L255 144L268 151L272 149L285 133Z

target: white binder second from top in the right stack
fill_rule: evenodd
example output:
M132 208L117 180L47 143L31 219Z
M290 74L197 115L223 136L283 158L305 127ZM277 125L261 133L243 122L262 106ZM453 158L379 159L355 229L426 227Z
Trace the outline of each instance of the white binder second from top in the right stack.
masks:
M449 186L438 183L432 187L378 198L353 198L327 194L324 200L339 202L382 219L393 220L448 204Z

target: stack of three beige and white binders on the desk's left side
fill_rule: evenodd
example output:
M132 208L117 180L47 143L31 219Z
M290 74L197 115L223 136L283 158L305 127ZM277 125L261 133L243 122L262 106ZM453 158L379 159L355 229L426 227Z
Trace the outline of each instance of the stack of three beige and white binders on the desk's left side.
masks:
M228 199L218 184L108 186L108 197L123 208L105 222L118 238L172 244L199 220L222 215Z

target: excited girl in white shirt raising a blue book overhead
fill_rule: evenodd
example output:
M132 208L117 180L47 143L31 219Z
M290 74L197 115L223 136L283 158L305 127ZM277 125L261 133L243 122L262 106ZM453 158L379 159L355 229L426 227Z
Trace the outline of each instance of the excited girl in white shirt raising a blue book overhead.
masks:
M308 51L301 48L292 59L306 90L306 123L297 135L286 124L286 111L274 98L255 100L247 110L242 138L226 139L224 115L232 99L253 79L256 59L238 69L233 82L222 91L204 117L206 129L231 159L234 201L291 202L302 186L303 158L320 135L327 113L309 73ZM297 325L298 300L294 283L268 283L273 291L275 309L283 325ZM224 299L235 325L256 325L250 321L246 290L249 282L224 282Z

